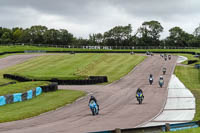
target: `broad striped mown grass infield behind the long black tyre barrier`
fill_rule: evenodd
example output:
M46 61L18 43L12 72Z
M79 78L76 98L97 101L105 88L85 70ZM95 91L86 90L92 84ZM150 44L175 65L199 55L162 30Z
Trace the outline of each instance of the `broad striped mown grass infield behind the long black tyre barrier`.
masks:
M0 71L35 79L84 79L107 76L109 82L120 79L146 57L130 54L56 54L36 57Z

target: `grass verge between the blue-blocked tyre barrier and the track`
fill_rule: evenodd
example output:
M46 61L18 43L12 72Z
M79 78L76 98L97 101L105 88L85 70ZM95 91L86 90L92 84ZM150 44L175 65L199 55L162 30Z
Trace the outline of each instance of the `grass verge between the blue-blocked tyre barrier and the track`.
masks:
M0 122L21 120L55 110L84 96L82 91L58 90L43 93L37 98L0 107Z

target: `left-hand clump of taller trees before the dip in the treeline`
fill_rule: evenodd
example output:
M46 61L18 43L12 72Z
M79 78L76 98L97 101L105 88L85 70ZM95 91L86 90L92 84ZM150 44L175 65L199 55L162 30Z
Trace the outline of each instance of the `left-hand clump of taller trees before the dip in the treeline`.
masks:
M2 28L0 27L0 43L31 43L31 44L71 44L74 37L65 29L48 29L45 26L31 28Z

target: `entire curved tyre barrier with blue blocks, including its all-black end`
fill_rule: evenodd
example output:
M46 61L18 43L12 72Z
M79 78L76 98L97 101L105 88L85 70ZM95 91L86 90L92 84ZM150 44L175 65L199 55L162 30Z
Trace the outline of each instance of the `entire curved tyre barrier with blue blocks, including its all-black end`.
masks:
M4 96L0 96L0 106L10 103L22 102L32 99L42 94L42 92L56 91L58 89L57 83L51 83L50 85L36 87L35 89L28 90L24 93L14 93Z

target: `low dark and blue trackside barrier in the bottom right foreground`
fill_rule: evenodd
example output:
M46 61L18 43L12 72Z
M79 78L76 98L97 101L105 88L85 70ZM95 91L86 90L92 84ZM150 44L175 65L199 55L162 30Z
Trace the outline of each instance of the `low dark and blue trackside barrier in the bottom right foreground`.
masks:
M179 123L179 124L169 124L159 126L149 126L149 127L139 127L139 128L128 128L128 129L120 129L116 128L114 130L107 131L97 131L97 132L89 132L89 133L160 133L167 131L178 131L185 130L190 128L197 128L200 126L200 121L195 122L187 122L187 123Z

